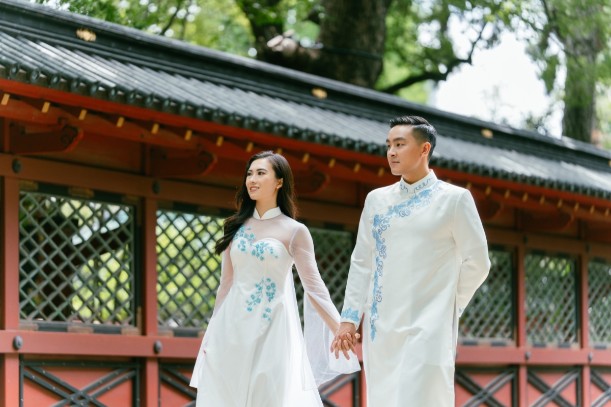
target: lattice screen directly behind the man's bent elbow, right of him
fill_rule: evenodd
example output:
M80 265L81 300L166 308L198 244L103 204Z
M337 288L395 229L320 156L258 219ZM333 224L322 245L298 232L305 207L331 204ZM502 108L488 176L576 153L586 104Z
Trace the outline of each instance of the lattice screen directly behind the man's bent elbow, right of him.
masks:
M513 340L513 252L489 250L490 273L459 320L463 344ZM475 343L474 343L475 344Z

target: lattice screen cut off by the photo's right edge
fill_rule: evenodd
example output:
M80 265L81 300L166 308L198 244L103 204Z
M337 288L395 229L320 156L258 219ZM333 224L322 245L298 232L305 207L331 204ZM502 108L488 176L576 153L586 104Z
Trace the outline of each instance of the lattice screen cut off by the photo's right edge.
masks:
M588 263L588 314L590 345L611 345L611 264L595 259Z

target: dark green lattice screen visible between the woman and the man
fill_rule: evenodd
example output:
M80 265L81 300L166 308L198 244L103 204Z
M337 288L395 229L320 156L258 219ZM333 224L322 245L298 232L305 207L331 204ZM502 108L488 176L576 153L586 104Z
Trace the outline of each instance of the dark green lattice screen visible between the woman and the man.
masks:
M341 311L350 268L350 256L354 249L353 234L352 232L332 229L309 229L314 242L318 270L327 289L329 289L331 300L337 306L338 311ZM295 278L295 292L299 314L301 315L303 312L304 289L295 267L293 267L293 277Z

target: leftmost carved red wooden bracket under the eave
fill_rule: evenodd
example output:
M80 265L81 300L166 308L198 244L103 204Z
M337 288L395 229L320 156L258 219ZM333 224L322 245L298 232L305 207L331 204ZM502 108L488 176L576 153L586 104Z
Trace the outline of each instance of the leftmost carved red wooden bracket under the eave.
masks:
M65 153L82 139L78 127L63 126L46 132L25 133L20 126L10 128L10 152L13 154Z

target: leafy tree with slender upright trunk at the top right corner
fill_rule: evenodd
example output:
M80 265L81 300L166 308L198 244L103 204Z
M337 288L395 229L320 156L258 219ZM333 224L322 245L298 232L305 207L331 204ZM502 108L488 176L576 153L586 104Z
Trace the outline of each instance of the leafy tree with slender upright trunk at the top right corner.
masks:
M531 35L529 53L541 68L547 92L560 68L564 102L563 134L590 142L596 128L596 84L611 79L610 0L510 0L505 16L513 29ZM600 123L599 123L600 124Z

